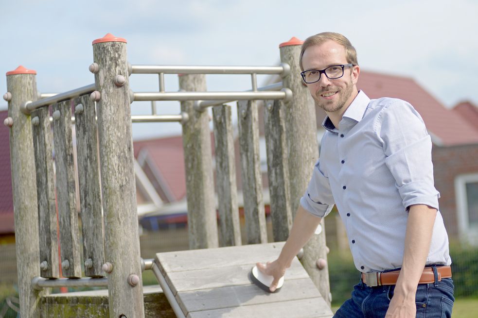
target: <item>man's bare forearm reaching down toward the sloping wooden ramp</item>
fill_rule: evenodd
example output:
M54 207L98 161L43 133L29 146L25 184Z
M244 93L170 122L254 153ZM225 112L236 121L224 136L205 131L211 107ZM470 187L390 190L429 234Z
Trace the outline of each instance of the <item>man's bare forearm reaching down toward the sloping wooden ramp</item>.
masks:
M312 234L314 234L319 226L320 220L321 218L305 211L299 204L289 238L278 259L284 267L288 268L290 266L294 257L299 253L305 243L307 243Z

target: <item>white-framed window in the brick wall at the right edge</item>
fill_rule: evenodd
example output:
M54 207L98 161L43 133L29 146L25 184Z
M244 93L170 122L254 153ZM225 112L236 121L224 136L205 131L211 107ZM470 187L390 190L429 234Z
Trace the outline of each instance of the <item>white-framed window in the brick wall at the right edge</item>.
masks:
M478 245L478 173L457 176L455 192L460 237Z

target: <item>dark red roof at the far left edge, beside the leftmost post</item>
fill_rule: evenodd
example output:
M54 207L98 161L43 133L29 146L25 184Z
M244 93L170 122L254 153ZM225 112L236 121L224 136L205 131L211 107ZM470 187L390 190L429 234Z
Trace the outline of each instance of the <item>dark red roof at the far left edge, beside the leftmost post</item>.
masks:
M8 111L0 111L0 233L13 233L12 171L10 169L10 133L2 123Z

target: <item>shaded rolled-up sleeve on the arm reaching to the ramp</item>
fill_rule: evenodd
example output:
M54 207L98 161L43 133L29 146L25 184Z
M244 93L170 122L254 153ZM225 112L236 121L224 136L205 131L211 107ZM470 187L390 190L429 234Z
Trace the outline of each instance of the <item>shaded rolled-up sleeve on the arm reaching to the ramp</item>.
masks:
M314 167L307 190L301 198L301 205L309 213L321 218L328 215L334 207L329 178L320 170L320 160Z

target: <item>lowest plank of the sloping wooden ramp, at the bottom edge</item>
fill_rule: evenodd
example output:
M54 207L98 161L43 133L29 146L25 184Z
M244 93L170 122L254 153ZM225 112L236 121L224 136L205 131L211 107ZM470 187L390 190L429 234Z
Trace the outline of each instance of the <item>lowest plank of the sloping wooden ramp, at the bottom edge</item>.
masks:
M330 307L322 298L301 299L295 301L272 302L250 306L239 306L189 313L187 318L329 318L332 317Z

